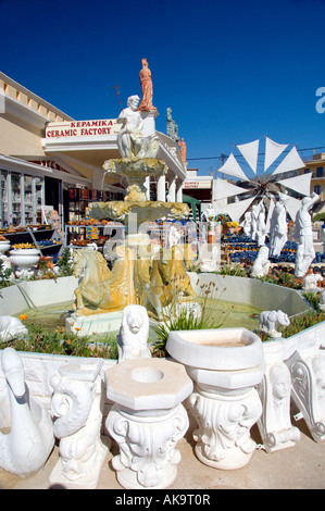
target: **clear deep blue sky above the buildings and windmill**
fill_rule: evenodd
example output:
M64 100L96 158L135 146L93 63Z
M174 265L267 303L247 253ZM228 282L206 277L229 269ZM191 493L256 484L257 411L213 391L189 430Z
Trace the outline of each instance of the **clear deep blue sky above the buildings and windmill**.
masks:
M124 105L141 96L147 58L157 129L172 108L204 175L266 134L325 146L324 20L325 0L0 0L0 70L77 120L109 119L115 85Z

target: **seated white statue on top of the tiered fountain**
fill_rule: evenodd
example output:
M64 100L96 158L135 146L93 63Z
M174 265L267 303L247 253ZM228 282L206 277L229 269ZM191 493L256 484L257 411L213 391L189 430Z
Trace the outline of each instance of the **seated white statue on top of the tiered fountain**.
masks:
M127 108L122 110L116 121L123 124L117 134L117 147L122 158L137 155L142 147L143 122L140 112L137 111L139 101L138 96L130 96L127 100Z

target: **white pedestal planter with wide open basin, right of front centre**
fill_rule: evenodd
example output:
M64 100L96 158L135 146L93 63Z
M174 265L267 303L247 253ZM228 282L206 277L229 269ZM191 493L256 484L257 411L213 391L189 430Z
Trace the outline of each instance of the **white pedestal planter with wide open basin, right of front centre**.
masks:
M254 389L265 371L261 339L246 328L178 331L166 350L196 384L188 402L197 457L216 469L246 465L255 449L250 428L262 413Z

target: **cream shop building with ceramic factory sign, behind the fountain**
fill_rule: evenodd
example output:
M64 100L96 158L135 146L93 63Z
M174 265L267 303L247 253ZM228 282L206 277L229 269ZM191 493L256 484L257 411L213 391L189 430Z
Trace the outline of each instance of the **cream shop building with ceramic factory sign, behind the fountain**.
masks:
M152 125L154 119L143 122ZM63 228L85 215L89 201L123 200L120 177L102 170L105 160L120 158L120 128L115 119L75 120L0 73L0 227L41 223L50 207ZM178 146L155 133L158 158L168 171L148 180L148 198L165 201L168 194L182 202L186 166Z

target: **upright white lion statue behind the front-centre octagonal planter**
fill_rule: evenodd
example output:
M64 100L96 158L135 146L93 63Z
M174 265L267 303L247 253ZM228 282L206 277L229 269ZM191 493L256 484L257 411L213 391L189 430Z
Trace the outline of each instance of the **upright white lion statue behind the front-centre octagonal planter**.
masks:
M118 362L126 359L150 359L148 347L149 319L142 306L127 306L123 310L120 335L117 335Z

